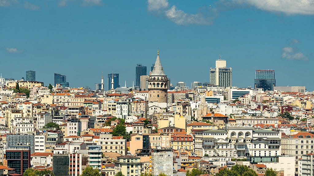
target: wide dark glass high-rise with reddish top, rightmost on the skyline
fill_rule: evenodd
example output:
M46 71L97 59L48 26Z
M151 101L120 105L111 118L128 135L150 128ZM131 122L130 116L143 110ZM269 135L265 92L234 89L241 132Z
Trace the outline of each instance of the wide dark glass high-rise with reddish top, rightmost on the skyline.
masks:
M264 91L273 91L276 86L275 70L255 70L254 88L263 88Z

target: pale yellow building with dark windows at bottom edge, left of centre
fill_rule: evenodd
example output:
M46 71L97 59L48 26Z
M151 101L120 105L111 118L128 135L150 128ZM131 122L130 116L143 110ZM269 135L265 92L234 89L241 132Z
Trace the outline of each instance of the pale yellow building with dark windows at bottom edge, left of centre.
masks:
M141 158L124 155L118 156L115 162L115 173L122 172L125 176L141 175L142 162Z

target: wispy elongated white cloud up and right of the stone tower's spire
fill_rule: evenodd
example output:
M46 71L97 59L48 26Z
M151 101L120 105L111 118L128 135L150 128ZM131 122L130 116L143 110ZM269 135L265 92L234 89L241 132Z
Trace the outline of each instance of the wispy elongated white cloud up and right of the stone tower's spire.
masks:
M165 14L176 24L210 24L201 14L187 14L183 10L177 10L176 6L165 11Z

